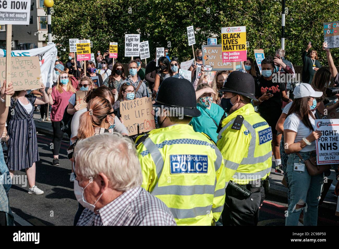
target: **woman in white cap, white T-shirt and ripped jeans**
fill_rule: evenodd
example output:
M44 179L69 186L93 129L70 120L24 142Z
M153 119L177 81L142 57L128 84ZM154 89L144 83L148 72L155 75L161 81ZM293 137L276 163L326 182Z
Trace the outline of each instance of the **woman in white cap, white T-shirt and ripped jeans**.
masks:
M323 174L309 175L303 161L315 157L315 141L321 137L321 131L315 129L315 117L311 110L317 105L315 98L321 97L322 92L301 83L293 94L294 101L284 122L285 152L289 154L288 187L291 189L285 225L297 226L303 210L304 225L316 226Z

